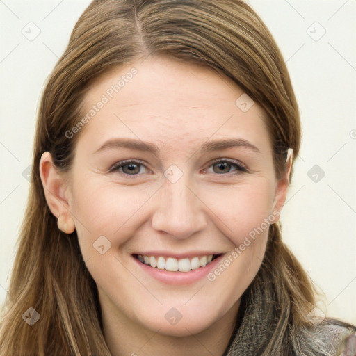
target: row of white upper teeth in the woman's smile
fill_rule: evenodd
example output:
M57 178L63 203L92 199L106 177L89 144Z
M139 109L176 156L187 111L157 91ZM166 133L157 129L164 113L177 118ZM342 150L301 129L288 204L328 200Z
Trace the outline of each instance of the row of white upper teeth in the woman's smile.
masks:
M184 259L175 259L175 257L159 257L156 259L154 256L145 256L142 254L138 255L138 259L143 264L148 264L153 268L159 268L160 270L169 270L170 272L189 272L190 270L196 270L199 267L204 267L209 264L213 255L209 254L209 256L202 257L193 257L192 259L188 259L188 257Z

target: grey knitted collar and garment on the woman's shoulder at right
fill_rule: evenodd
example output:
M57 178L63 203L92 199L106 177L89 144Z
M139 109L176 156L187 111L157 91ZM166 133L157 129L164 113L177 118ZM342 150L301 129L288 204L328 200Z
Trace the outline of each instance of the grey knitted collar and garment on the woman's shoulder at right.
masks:
M265 279L265 281L264 281ZM237 324L223 356L265 356L264 350L278 327L278 305L273 285L257 275L241 298ZM268 356L337 356L356 327L325 319L315 327L284 331L283 342ZM293 337L291 337L293 335Z

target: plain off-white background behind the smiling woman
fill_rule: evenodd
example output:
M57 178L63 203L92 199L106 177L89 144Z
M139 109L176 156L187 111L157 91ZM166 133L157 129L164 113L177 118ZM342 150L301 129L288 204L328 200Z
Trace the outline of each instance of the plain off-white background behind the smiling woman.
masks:
M40 94L89 3L0 0L0 302L29 191ZM302 118L302 149L282 210L284 241L325 292L321 309L356 324L356 3L249 3L282 50Z

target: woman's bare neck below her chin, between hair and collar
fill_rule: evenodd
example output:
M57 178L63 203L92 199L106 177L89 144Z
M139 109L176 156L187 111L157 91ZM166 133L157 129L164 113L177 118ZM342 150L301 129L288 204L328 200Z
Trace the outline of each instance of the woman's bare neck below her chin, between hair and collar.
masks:
M105 298L102 296L102 298ZM107 297L106 297L107 298ZM104 337L112 356L211 356L223 355L232 336L240 300L223 318L197 334L174 337L152 331L127 318L117 307L115 312L102 303ZM113 305L112 305L113 306Z

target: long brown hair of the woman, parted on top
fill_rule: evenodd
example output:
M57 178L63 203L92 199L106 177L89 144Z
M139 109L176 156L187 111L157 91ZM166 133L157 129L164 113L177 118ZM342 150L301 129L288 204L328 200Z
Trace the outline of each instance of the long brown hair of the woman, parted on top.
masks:
M300 120L286 65L256 13L238 0L95 0L81 15L43 92L35 131L31 188L10 289L1 322L1 355L110 355L94 280L76 232L58 230L40 181L49 151L59 170L70 170L79 134L65 132L81 119L88 84L113 67L148 56L196 63L233 79L268 116L276 176L286 150L300 149ZM279 322L263 355L279 350L289 324L309 323L314 287L270 226L262 268L276 289ZM40 321L22 320L33 307ZM282 350L282 348L280 348ZM273 355L277 355L273 353Z

